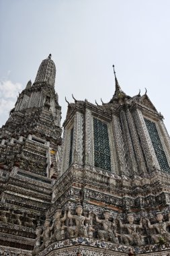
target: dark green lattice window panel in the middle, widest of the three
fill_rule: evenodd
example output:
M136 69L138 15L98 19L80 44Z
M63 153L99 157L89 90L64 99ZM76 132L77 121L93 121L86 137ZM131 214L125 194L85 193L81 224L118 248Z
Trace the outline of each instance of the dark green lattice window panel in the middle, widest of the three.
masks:
M95 167L111 171L107 124L93 118L93 137Z

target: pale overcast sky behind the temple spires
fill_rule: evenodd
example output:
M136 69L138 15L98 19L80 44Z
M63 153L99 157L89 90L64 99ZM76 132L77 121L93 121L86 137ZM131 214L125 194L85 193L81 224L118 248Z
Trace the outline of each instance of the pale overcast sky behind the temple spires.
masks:
M148 96L170 132L169 0L0 0L0 126L52 53L62 106L108 102L114 73L130 96Z

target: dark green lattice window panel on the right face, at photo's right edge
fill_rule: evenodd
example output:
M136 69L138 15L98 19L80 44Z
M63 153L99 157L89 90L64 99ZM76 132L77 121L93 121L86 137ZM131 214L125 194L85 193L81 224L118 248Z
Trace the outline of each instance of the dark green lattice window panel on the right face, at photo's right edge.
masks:
M159 137L159 133L157 131L157 127L156 127L155 123L148 119L144 119L144 121L145 121L146 127L148 129L148 134L153 143L153 148L155 150L155 154L157 156L157 160L159 162L159 166L160 166L161 170L164 170L165 172L170 172L169 164L167 162L167 157L163 150L161 139Z

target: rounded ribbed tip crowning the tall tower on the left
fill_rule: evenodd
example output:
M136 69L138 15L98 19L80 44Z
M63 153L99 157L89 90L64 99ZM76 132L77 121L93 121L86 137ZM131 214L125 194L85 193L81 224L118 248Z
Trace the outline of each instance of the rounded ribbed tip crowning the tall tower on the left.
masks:
M38 69L35 84L40 84L46 82L50 86L54 86L55 77L56 77L56 67L54 61L51 59L51 54L48 55L48 58L44 59L40 64Z

